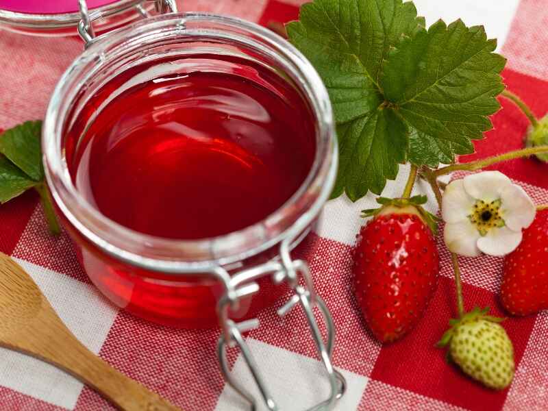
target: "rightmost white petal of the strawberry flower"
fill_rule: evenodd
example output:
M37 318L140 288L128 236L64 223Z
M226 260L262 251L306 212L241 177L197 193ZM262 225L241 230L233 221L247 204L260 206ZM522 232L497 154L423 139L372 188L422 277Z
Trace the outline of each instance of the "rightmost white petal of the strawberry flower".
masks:
M535 219L536 206L523 188L511 184L501 191L501 212L508 228L520 231Z

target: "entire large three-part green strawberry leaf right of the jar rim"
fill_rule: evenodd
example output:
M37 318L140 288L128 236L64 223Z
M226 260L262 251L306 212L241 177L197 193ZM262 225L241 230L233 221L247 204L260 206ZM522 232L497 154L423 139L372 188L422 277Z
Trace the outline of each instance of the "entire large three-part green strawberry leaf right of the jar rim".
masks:
M399 163L437 167L492 127L505 61L482 27L425 29L411 2L315 0L287 26L329 92L340 145L332 198L380 194Z

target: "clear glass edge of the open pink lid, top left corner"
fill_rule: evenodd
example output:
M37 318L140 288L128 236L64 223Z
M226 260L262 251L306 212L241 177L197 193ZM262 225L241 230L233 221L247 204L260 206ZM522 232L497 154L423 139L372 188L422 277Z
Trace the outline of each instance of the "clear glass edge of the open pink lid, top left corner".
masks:
M142 3L142 0L115 0L97 8L90 8L89 11L91 16L108 17L134 8L139 3ZM81 19L82 15L79 11L47 14L12 12L0 9L0 25L6 24L12 27L27 27L36 30L76 28Z

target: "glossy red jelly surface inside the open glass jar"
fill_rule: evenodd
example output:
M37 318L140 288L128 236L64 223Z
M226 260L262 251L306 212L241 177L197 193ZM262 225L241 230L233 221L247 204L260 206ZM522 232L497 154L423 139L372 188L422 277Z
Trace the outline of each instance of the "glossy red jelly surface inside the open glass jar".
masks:
M125 227L179 239L235 232L303 183L314 123L300 95L260 66L192 58L182 67L108 102L82 142L67 142L69 168L88 201ZM106 89L137 78L129 74Z

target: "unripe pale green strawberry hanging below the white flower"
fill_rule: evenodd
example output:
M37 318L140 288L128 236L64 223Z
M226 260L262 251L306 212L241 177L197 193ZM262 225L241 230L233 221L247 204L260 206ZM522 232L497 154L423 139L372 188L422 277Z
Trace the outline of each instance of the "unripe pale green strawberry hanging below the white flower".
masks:
M514 377L514 347L503 319L486 315L488 308L451 320L451 328L438 345L449 345L449 356L464 373L495 390L510 385Z

